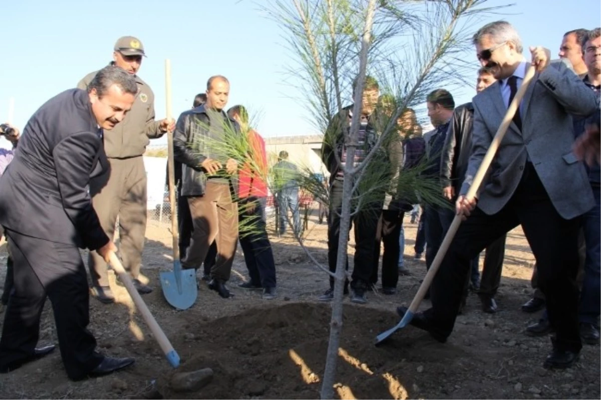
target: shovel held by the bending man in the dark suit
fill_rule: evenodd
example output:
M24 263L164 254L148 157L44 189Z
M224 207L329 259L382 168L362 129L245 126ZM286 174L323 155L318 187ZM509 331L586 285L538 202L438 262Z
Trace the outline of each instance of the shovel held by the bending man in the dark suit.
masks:
M117 273L121 282L129 292L130 297L132 297L133 303L136 305L136 308L142 314L142 318L144 318L144 322L150 328L150 331L153 333L154 338L157 342L159 342L161 350L165 354L165 357L169 361L169 364L173 368L177 368L180 365L180 356L173 349L173 346L165 336L165 333L162 329L160 329L159 324L154 319L153 315L150 313L148 306L142 300L142 297L136 290L135 286L133 286L132 278L128 273L123 269L123 265L121 265L121 261L117 258L115 253L111 252L109 255L109 264L111 264L112 269Z

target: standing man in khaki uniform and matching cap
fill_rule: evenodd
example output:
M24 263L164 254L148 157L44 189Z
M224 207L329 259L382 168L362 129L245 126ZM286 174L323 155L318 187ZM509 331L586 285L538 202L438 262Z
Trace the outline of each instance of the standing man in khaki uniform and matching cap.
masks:
M106 157L110 168L102 176L90 182L90 194L98 213L100 225L109 238L115 234L115 223L119 218L120 254L123 267L133 279L141 294L150 293L150 286L138 279L146 232L146 171L142 154L150 142L175 128L173 120L154 120L154 94L150 86L136 73L144 56L141 41L124 36L115 43L114 61L111 65L123 68L134 77L138 95L132 110L118 123L112 134L104 139ZM88 74L78 88L85 89L96 76ZM92 277L91 293L100 302L112 303L115 297L109 286L106 262L100 255L90 252L88 268Z

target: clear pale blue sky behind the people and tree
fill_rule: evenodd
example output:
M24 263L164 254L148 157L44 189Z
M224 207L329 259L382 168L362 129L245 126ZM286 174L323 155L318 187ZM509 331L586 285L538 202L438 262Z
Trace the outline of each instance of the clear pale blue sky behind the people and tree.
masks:
M204 91L207 77L223 74L231 82L229 105L242 103L261 112L257 128L263 136L316 133L303 103L296 100L302 93L282 83L291 53L283 45L281 30L261 15L252 0L8 3L2 7L0 121L7 119L9 99L14 97L13 122L22 129L46 100L111 61L118 37L133 35L148 55L139 76L153 88L157 118L165 117L164 65L169 58L174 118L191 106L197 92ZM491 0L487 4L510 3ZM598 1L515 3L502 11L506 15L486 17L481 25L508 20L525 46L548 47L554 58L564 32L601 25ZM476 62L474 52L466 57ZM456 93L456 103L468 102L473 94L472 88L465 88ZM0 145L7 142L0 139Z

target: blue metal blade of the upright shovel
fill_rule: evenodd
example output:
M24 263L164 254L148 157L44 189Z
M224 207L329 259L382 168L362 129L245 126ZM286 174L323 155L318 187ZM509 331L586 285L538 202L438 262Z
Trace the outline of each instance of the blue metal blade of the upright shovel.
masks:
M167 302L177 309L188 309L196 301L198 295L196 270L194 268L182 270L180 261L174 261L173 271L160 273L160 285Z

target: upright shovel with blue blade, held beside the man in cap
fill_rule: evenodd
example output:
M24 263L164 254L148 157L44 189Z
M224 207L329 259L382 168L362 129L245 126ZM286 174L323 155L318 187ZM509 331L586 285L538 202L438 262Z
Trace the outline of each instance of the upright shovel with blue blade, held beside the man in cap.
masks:
M167 98L167 118L171 118L171 62L165 60L165 96ZM173 232L173 270L160 273L160 286L167 302L177 309L190 308L196 301L198 287L196 270L182 270L180 262L179 226L175 210L175 172L173 161L173 132L167 133L169 163L169 205L171 207L171 231ZM180 199L179 201L182 201Z

